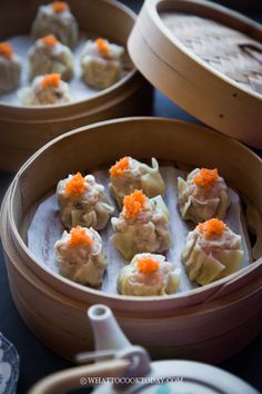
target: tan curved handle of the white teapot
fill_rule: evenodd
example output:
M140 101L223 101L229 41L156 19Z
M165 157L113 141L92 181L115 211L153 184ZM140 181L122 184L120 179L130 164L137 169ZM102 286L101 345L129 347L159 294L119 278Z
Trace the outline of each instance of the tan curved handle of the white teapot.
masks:
M94 377L123 376L130 364L129 359L119 358L57 372L38 382L28 394L61 394L69 390L83 388Z

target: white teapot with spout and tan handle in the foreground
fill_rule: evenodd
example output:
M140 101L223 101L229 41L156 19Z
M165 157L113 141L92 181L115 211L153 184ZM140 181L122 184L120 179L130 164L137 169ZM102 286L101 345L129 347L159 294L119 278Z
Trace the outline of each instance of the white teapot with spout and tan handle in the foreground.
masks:
M260 394L239 377L208 364L151 362L143 347L131 345L105 305L91 306L88 316L95 352L75 358L95 363L47 376L29 394L60 394L88 385L94 385L94 394Z

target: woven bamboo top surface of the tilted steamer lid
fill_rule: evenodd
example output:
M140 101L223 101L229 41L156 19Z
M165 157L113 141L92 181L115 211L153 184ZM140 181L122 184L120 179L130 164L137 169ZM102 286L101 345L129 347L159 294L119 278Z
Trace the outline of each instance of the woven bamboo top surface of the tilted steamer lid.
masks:
M215 18L222 19L219 12L212 13L210 10L210 18L204 18L201 8L199 13L196 11L195 6L192 12L174 9L159 14L188 53L216 73L234 80L240 87L262 95L262 40L231 27L232 20L226 16L223 16L222 21L216 21ZM239 22L239 27L243 28L243 23ZM252 32L251 28L248 30Z

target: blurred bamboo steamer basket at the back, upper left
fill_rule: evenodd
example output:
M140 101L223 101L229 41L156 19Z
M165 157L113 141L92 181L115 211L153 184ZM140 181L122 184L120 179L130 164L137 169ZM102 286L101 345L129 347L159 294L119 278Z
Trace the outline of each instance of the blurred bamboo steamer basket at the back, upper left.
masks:
M50 1L32 0L0 4L0 41L30 31L38 7ZM80 30L94 31L127 45L135 14L113 0L69 0ZM19 12L13 12L14 9ZM131 65L119 82L91 98L62 106L29 108L8 105L0 98L0 169L17 170L38 148L73 128L94 121L138 114L150 101L145 80ZM145 96L147 95L147 100Z

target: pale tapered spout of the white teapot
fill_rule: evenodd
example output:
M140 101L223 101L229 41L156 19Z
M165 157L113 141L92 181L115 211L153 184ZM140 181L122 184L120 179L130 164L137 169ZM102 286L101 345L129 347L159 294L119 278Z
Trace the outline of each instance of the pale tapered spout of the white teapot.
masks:
M111 309L102 304L92 305L88 309L92 326L95 351L122 349L131 346L123 334Z

